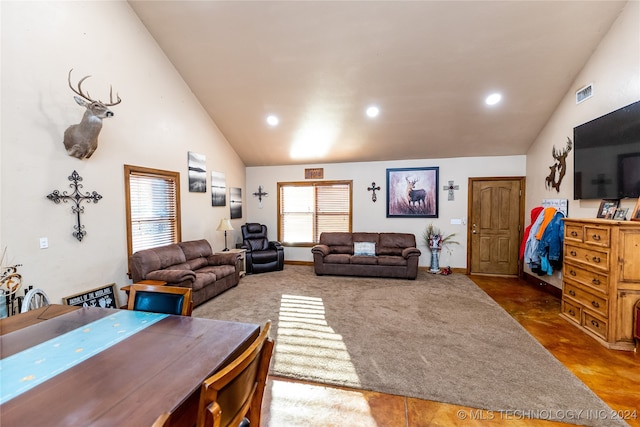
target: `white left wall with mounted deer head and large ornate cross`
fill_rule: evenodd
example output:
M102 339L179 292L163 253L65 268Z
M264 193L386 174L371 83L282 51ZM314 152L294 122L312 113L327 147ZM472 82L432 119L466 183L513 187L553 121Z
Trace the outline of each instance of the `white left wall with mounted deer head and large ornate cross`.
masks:
M244 164L207 116L128 3L2 1L0 247L21 263L24 283L53 299L115 282L127 272L123 165L180 172L182 236L223 248L215 228L229 206L211 207L210 192L189 193L187 152L206 155L208 171L224 172L228 187L244 188ZM84 109L73 100L73 80L106 100L113 85L122 103L104 120L90 159L67 155L64 130ZM70 191L78 171L84 191L103 196L84 204L87 235L72 235L69 204L46 198ZM207 185L209 185L207 177ZM240 227L243 220L233 221ZM236 224L237 223L237 224ZM49 239L39 249L39 239ZM121 295L122 297L122 295ZM121 303L124 301L121 300Z

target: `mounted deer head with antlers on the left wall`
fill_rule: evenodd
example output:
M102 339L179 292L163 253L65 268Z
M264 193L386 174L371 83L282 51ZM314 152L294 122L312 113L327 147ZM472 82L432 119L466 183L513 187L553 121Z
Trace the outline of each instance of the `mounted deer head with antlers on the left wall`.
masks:
M96 101L91 99L89 92L86 94L82 91L82 83L91 76L85 76L78 82L76 90L71 85L71 72L69 70L69 87L77 95L73 99L85 107L82 121L77 125L71 125L64 131L64 146L70 156L78 159L88 159L91 157L96 148L98 148L98 135L102 129L102 119L112 117L113 112L108 107L119 104L122 100L116 94L116 101L113 101L113 88L109 89L109 103Z

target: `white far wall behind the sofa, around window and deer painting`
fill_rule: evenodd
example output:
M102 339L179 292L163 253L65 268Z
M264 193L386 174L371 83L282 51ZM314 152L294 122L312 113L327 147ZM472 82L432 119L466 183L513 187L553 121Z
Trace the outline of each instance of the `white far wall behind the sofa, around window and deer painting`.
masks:
M353 180L353 230L390 231L413 233L422 250L420 265L430 264L429 250L422 242L424 229L433 223L445 233L456 233L455 240L460 246L453 246L452 253L442 251L441 266L466 268L467 265L467 198L470 177L524 176L526 159L524 156L471 157L453 159L420 159L389 162L310 164L296 166L265 166L247 168L247 216L251 221L266 224L269 236L277 238L277 183L304 181L305 168L324 168L325 180ZM387 218L386 217L386 170L388 168L439 167L439 216L438 218ZM460 189L454 191L455 200L448 201L448 191L443 186L454 181ZM377 202L371 201L367 191L371 183L380 186ZM258 208L258 199L252 193L262 185L269 196L263 199L264 207ZM452 225L452 219L463 219L465 224ZM237 236L237 240L241 239ZM285 260L312 261L311 248L287 247Z

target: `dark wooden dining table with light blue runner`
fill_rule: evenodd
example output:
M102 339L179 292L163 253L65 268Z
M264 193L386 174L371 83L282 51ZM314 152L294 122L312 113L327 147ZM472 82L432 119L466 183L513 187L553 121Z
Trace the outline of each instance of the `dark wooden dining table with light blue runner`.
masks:
M195 425L202 382L260 325L49 305L0 320L2 427Z

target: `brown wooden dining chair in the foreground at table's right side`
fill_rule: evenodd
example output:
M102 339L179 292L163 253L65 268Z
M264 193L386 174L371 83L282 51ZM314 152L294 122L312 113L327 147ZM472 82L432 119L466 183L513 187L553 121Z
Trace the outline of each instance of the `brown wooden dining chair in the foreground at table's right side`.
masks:
M197 427L260 427L273 339L271 321L238 358L202 384Z

